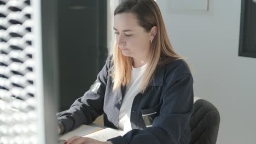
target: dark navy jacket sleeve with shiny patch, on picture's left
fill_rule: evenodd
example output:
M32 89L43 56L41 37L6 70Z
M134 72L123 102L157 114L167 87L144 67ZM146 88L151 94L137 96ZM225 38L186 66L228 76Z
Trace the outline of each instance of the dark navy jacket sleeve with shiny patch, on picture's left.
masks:
M83 97L75 100L67 111L58 114L58 123L63 124L65 127L64 130L61 130L60 134L65 134L82 124L90 124L98 116L102 115L110 57L107 58L106 64L98 73L97 79L89 91L85 92Z

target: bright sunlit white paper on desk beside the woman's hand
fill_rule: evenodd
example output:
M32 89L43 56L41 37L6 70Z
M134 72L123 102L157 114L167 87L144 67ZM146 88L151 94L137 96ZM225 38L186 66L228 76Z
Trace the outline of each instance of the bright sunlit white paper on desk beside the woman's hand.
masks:
M111 138L117 137L117 136L123 136L124 134L125 134L125 131L112 129L112 128L106 128L106 129L96 131L95 133L85 135L83 137L90 137L92 139L99 140L99 141L107 141L108 139L111 139Z

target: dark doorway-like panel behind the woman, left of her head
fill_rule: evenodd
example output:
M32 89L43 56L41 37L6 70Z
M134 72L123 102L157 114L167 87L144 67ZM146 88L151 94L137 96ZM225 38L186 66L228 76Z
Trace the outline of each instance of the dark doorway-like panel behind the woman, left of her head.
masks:
M60 107L69 109L96 80L107 58L107 1L58 1Z

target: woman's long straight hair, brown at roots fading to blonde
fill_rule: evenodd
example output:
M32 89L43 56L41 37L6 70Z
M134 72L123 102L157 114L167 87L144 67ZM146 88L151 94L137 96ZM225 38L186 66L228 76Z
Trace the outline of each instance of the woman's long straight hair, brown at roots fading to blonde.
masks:
M139 26L147 32L156 26L157 33L150 45L149 61L144 70L143 81L140 92L146 91L149 82L152 80L155 69L159 64L167 64L177 59L184 59L174 52L168 39L164 20L160 9L154 0L127 0L118 5L114 15L121 13L132 13L136 16ZM184 59L185 60L185 59ZM114 83L113 91L121 86L127 86L131 79L132 57L126 57L119 49L117 42L114 44L111 76Z

